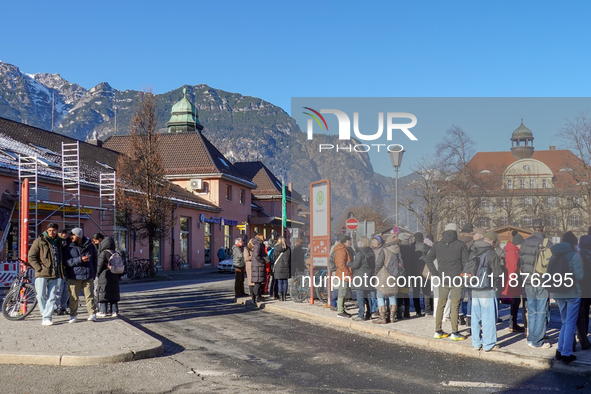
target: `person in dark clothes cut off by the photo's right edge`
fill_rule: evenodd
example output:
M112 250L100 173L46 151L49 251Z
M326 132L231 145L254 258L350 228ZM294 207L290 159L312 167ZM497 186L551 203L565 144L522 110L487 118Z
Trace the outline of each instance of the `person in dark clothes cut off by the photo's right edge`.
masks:
M579 239L581 262L583 263L583 279L581 285L581 305L577 318L577 336L583 350L591 348L587 335L589 334L589 307L591 306L591 227Z

